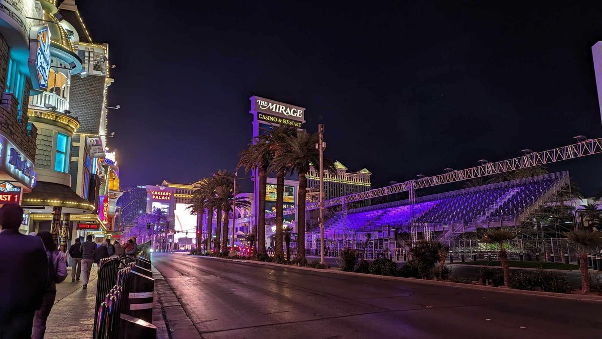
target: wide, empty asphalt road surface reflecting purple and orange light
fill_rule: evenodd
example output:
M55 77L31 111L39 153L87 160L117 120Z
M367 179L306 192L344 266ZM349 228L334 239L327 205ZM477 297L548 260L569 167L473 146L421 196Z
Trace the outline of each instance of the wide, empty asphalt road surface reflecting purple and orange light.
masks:
M602 303L155 253L203 338L602 338Z

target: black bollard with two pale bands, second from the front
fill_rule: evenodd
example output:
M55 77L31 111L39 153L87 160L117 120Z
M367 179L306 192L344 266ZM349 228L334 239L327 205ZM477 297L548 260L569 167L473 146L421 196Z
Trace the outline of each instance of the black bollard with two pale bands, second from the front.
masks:
M145 322L152 322L155 279L132 270L128 280L124 290L125 305L123 305L122 312Z

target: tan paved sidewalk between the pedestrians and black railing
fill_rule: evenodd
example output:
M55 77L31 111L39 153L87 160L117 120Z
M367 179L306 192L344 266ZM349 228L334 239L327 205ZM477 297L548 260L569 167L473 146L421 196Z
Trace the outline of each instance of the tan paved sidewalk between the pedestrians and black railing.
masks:
M57 284L57 299L46 322L45 338L92 338L97 271L94 265L88 288L83 290L83 280L71 282L71 267L67 268L67 279Z

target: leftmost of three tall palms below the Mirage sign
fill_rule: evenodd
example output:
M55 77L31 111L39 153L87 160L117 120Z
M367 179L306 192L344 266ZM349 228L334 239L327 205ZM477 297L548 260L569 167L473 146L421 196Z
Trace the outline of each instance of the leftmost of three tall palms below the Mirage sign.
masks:
M237 166L237 170L244 167L245 173L253 170L258 171L257 253L260 256L267 256L265 252L265 185L267 185L267 171L273 158L274 152L270 149L269 138L262 135L256 138L253 144L247 145L247 148L241 151Z

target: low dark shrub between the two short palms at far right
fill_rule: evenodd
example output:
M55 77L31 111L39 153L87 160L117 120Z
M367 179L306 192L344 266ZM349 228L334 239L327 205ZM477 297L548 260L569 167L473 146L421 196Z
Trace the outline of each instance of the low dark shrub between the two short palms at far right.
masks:
M533 291L536 287L545 292L570 293L573 288L566 277L556 276L550 271L519 271L512 277L510 287L517 290Z

